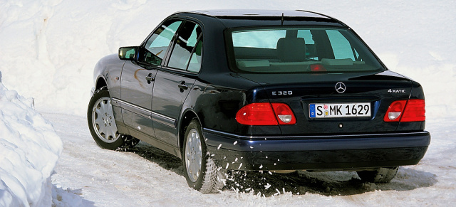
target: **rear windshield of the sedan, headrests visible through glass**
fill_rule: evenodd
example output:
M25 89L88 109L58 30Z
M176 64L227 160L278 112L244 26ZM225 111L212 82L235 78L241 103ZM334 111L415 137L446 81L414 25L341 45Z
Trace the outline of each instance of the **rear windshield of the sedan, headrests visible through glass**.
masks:
M343 28L259 28L228 32L232 68L240 73L345 73L384 70Z

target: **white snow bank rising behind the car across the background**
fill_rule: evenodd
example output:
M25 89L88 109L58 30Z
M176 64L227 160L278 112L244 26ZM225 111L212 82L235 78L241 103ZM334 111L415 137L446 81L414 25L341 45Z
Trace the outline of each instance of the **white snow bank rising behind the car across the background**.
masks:
M304 9L351 26L390 70L424 86L427 117L456 115L456 3L440 1L0 1L4 85L36 106L85 115L93 66L137 46L165 16L196 9Z

